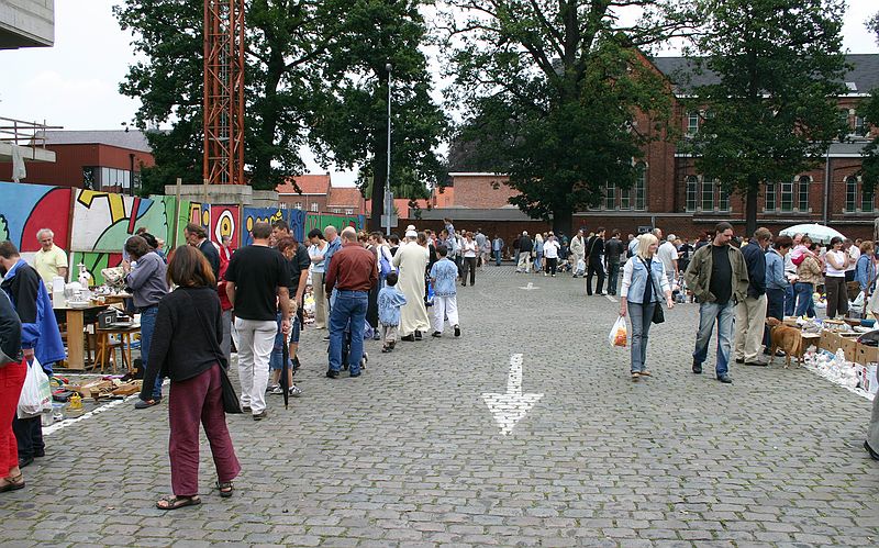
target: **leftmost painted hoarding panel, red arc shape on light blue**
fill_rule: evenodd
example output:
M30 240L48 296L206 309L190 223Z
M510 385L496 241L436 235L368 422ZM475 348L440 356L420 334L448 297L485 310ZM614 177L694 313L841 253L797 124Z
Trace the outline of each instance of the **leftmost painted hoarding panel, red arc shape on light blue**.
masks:
M70 193L66 187L0 182L0 242L11 241L22 253L37 251L37 231L49 228L67 249Z

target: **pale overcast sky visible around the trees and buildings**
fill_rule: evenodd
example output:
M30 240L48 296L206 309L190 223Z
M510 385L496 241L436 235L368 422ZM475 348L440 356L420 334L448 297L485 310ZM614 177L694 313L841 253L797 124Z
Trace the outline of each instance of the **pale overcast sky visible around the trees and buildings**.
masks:
M55 46L0 51L0 116L46 121L65 130L118 130L138 102L119 94L134 55L111 8L121 0L55 0ZM844 45L849 53L879 53L864 22L876 0L849 0ZM311 170L323 172L311 163ZM334 183L353 183L351 174Z

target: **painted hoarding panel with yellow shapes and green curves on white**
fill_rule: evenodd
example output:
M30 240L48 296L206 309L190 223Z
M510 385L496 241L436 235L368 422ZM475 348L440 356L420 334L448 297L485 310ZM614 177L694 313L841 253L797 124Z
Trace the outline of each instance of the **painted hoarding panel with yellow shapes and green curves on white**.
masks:
M120 253L125 239L137 228L145 227L157 238L173 245L169 237L174 226L168 216L168 201L174 197L159 197L158 200L134 198L110 192L79 190L74 203L73 235L70 249L74 251Z

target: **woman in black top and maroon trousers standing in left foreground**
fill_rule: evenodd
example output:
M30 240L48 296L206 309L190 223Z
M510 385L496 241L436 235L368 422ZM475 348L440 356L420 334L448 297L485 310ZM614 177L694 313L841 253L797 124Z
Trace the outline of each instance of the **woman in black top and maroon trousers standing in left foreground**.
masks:
M159 373L170 378L168 456L174 496L159 510L201 504L199 497L199 423L211 445L220 496L232 496L232 480L241 471L223 411L221 371L229 367L221 349L223 313L208 259L194 247L175 249L168 283L177 290L162 299L149 349L141 399L153 398Z

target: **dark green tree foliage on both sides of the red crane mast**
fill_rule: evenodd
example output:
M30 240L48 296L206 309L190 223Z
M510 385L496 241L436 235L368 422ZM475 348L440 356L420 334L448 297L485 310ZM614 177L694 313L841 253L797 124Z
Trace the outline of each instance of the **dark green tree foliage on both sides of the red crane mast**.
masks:
M245 164L254 188L274 189L301 172L299 150L305 144L324 164L371 175L371 161L386 150L381 128L387 115L381 113L387 109L387 78L380 75L387 74L389 60L400 67L394 71L405 82L394 90L394 108L409 113L396 120L394 159L401 174L414 174L422 188L425 171L427 178L435 176L433 149L444 119L435 107L430 110L430 78L419 52L424 41L419 4L245 2ZM143 174L144 192L162 192L177 177L201 182L202 2L126 0L114 11L122 27L132 31L143 59L120 86L123 94L143 103L137 125L171 125L169 132L147 134L157 167Z

